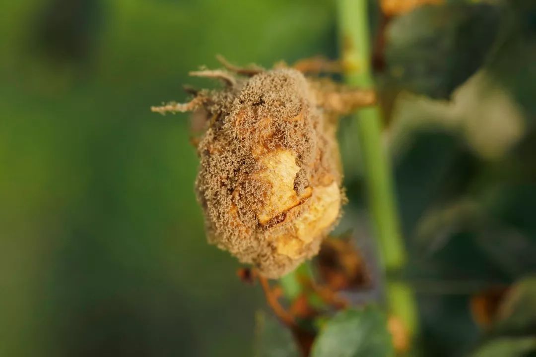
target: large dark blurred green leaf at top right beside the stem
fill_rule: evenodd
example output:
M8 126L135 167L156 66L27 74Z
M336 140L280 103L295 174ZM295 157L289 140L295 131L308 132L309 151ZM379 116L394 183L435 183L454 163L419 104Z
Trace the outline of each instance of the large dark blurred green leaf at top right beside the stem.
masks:
M498 28L487 4L422 6L393 20L386 62L398 86L446 98L482 65Z

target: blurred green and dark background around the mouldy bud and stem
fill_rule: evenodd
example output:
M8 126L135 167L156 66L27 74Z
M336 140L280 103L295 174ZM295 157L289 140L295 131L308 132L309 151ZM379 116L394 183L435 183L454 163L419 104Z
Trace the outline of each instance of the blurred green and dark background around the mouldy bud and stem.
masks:
M377 83L423 355L471 351L484 338L471 297L536 269L532 3L446 1L385 29ZM188 117L148 108L214 86L187 73L215 54L337 58L335 6L0 4L1 356L252 355L263 297L206 244ZM366 241L353 125L341 123L345 221Z

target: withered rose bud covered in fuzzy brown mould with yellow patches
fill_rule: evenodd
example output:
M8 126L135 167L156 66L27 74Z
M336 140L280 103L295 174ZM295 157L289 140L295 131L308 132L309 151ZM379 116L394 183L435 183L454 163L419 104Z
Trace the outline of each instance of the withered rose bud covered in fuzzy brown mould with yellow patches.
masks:
M375 96L291 68L232 70L246 76L192 72L227 86L153 111L206 118L196 192L209 242L279 278L318 253L341 214L336 114Z

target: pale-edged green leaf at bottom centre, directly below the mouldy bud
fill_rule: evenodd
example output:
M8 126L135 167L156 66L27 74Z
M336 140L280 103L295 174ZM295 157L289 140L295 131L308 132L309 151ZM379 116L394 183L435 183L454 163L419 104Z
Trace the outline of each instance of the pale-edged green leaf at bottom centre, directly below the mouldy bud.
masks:
M377 307L335 315L312 346L312 357L384 357L394 354L386 316Z

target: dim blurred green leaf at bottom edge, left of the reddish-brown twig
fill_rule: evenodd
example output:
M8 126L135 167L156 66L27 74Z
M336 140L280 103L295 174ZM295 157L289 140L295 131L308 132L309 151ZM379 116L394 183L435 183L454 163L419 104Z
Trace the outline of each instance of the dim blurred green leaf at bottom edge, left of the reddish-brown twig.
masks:
M291 331L262 310L255 316L255 357L300 357Z

